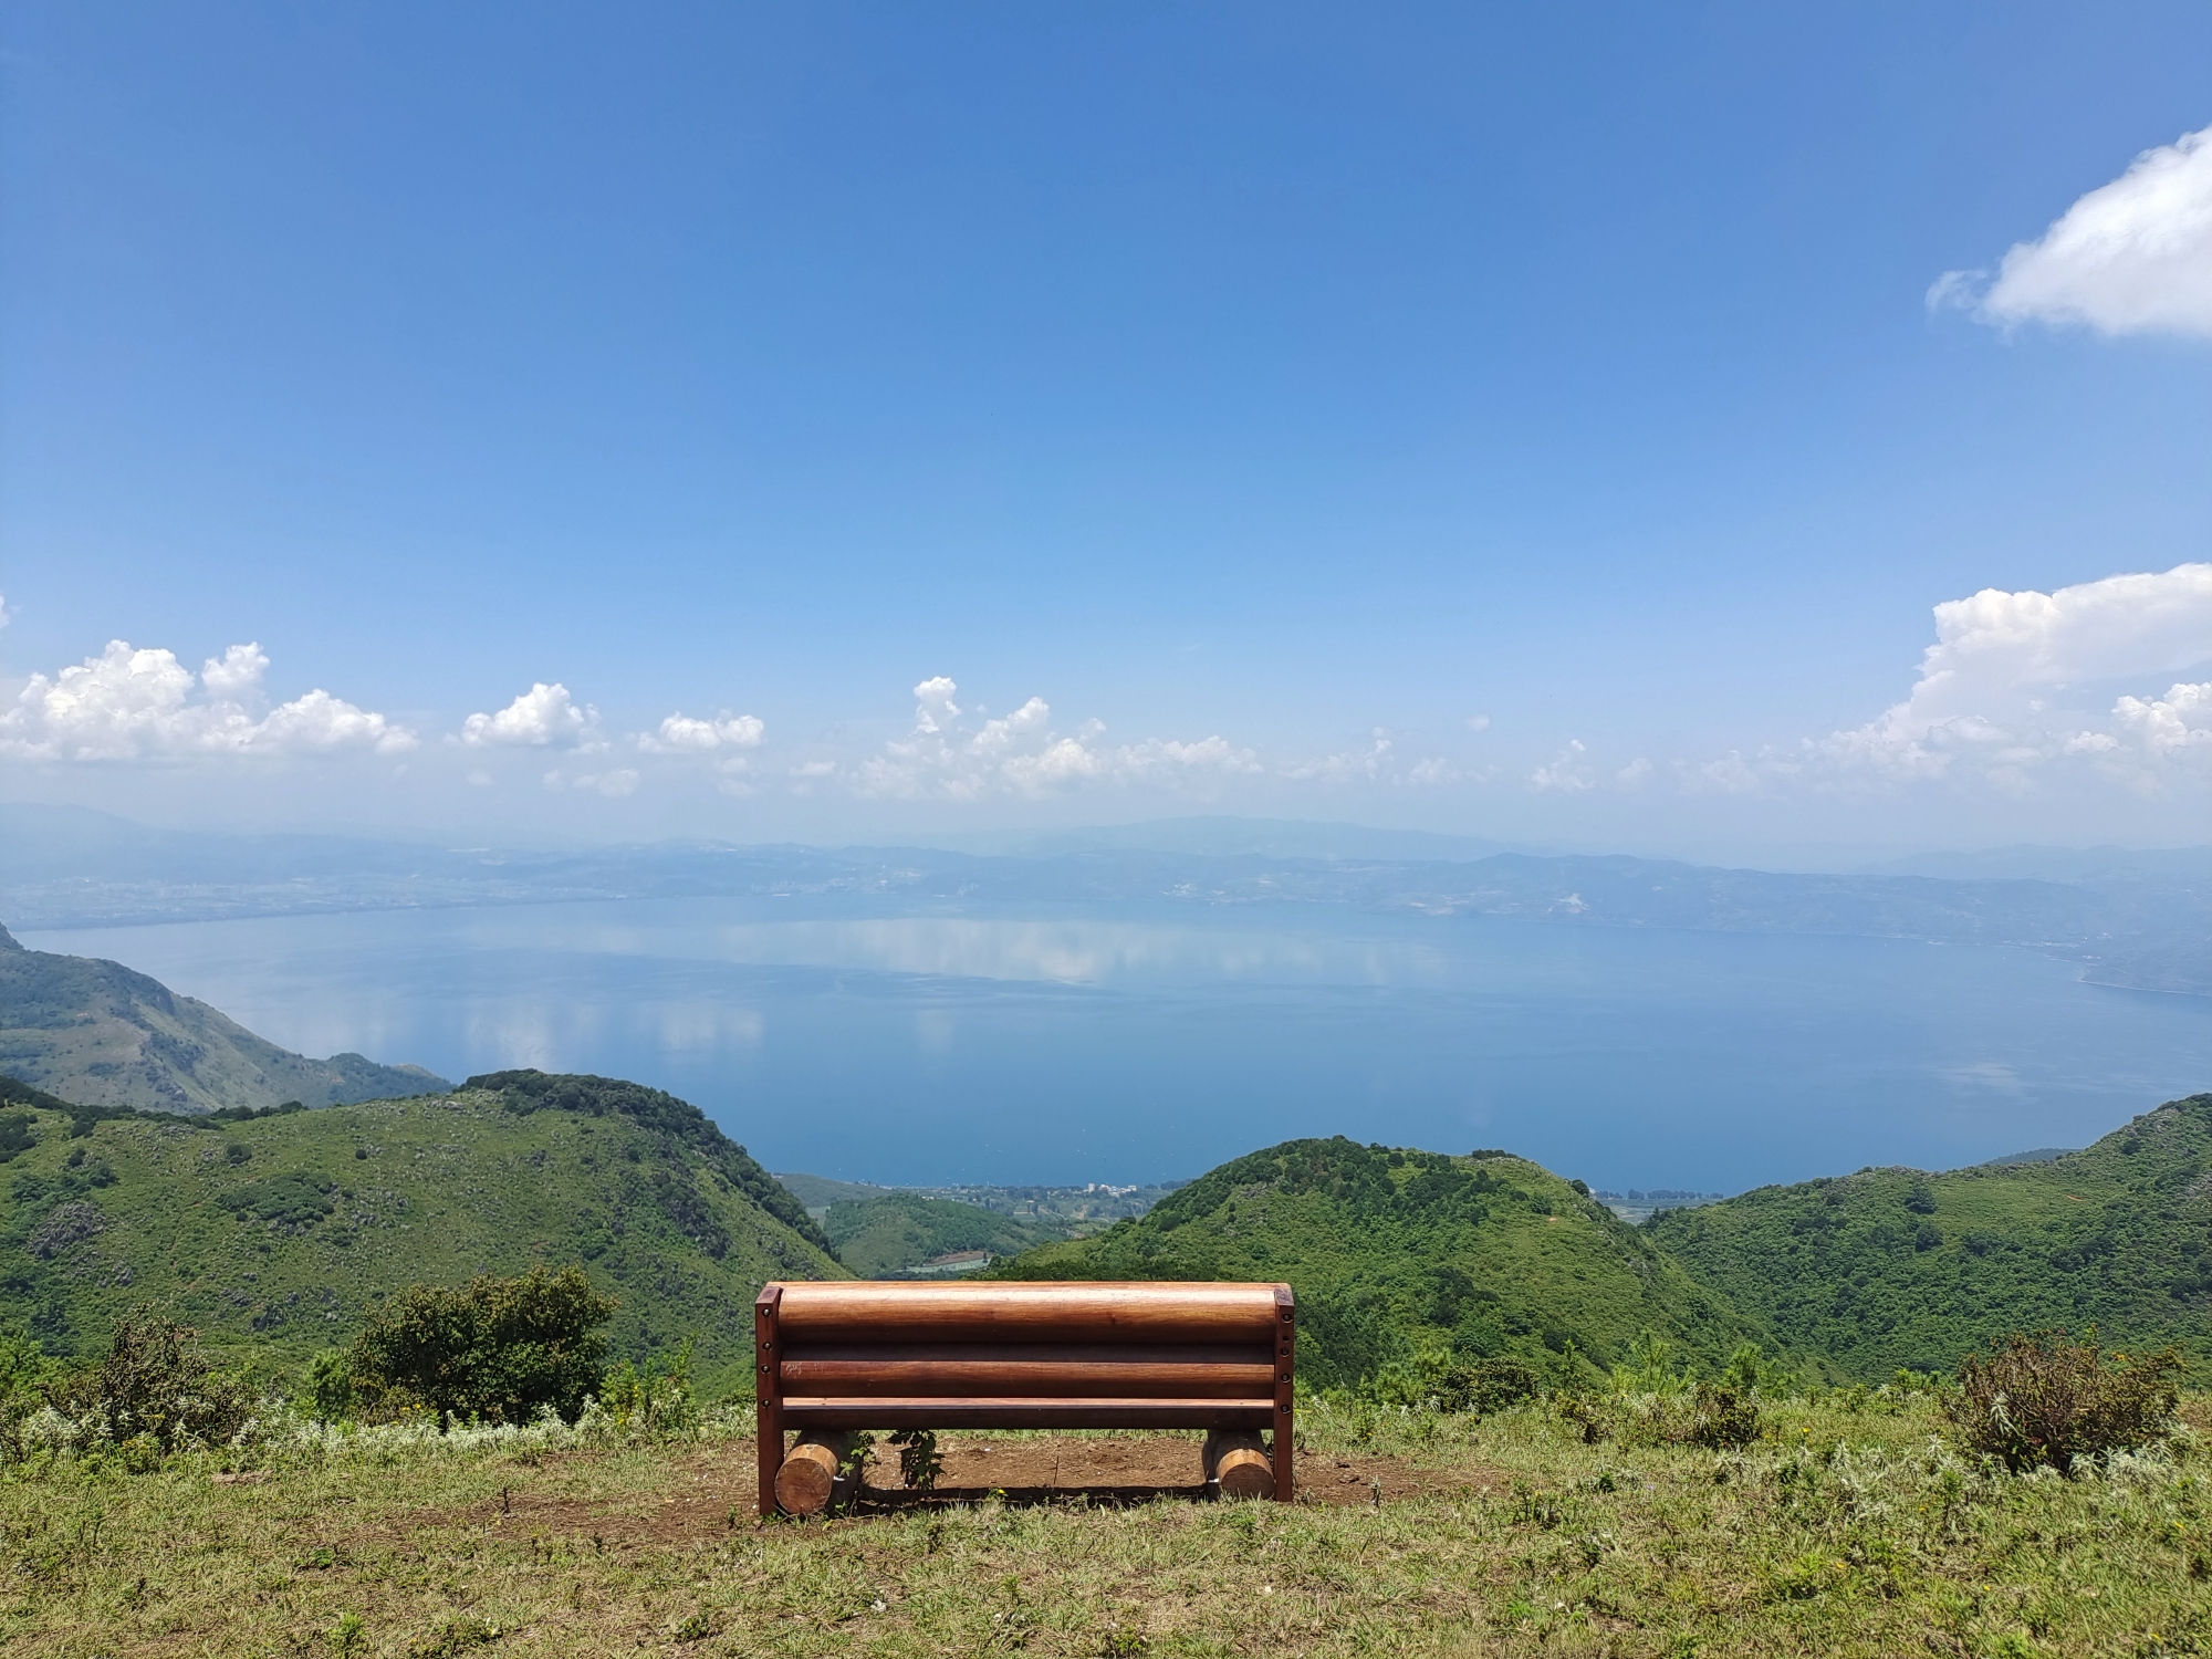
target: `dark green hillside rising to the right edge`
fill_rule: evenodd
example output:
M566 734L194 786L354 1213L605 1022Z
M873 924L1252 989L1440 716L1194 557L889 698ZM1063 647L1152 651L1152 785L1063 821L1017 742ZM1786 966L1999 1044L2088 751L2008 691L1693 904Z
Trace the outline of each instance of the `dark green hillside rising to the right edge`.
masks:
M1648 1234L1790 1347L1878 1380L2008 1332L2212 1358L2212 1095L2039 1164L1860 1170L1668 1210Z

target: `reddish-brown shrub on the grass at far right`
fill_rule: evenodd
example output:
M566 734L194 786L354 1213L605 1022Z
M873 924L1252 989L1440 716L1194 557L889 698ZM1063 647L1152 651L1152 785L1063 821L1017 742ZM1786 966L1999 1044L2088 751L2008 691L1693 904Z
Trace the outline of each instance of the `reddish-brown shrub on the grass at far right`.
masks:
M2174 1349L2106 1354L2064 1332L2013 1336L1995 1356L1969 1354L1958 1389L1944 1394L1944 1416L1975 1451L2004 1460L2013 1473L2075 1458L2132 1451L2154 1440L2179 1398Z

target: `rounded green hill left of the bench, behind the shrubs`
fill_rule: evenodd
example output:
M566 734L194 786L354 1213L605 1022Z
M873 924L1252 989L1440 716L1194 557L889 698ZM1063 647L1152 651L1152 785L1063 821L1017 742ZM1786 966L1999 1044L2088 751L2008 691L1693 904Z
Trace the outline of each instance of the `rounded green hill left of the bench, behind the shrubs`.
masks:
M622 1301L617 1352L690 1336L712 1387L750 1376L765 1279L845 1276L741 1146L637 1084L522 1071L248 1121L80 1121L0 1113L0 1321L49 1352L95 1352L155 1303L230 1358L299 1365L403 1285L582 1261Z

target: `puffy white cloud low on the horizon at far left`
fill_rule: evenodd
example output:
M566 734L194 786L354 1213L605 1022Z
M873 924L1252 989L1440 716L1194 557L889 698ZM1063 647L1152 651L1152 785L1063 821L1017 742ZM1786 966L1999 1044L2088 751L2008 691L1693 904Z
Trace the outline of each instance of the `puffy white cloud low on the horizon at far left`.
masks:
M405 726L325 690L268 706L261 646L230 646L192 675L173 650L111 639L58 675L31 675L0 714L0 754L135 761L186 754L330 754L416 748Z

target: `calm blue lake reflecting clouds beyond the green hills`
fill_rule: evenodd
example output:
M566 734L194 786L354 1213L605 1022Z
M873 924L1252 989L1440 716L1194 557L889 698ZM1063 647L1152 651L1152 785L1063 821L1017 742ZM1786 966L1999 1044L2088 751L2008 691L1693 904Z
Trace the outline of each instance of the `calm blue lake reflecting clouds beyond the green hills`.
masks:
M24 931L312 1055L668 1088L779 1170L1155 1181L1296 1135L1741 1190L2081 1146L2212 1088L2212 1000L2017 949L692 898Z

